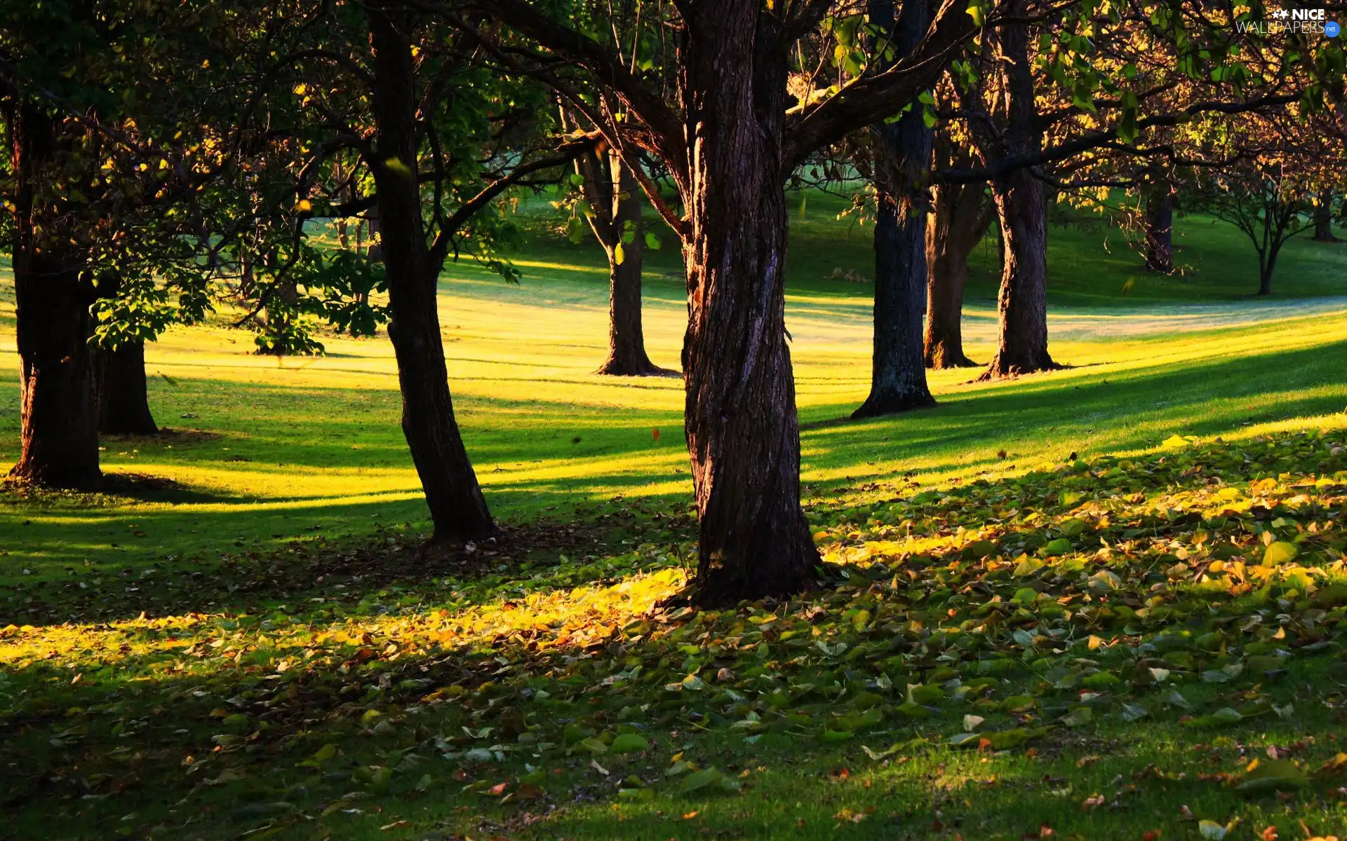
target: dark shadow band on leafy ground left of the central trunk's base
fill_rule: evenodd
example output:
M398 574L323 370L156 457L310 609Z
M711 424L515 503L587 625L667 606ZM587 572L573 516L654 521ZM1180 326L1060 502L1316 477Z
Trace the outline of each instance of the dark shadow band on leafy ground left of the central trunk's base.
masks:
M432 545L416 530L376 525L372 534L327 536L315 530L277 540L268 549L230 546L234 552L210 560L170 554L120 571L69 565L63 577L0 584L0 627L259 614L277 606L300 610L313 600L358 604L369 593L389 588L418 599L439 599L484 579L501 584L515 577L547 577L548 571L567 562L621 556L634 544L686 554L684 545L695 534L688 511L668 513L620 497L582 507L579 515L579 521L501 523L494 537L467 545ZM587 583L605 580L603 575L593 579ZM559 581L559 587L578 583L564 569Z

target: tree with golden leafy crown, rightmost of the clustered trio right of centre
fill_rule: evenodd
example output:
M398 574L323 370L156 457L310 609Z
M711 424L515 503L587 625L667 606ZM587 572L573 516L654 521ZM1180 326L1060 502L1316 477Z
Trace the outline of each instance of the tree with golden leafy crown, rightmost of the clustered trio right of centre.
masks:
M981 167L938 174L944 183L986 180L997 206L1005 257L998 349L985 379L1059 367L1048 353L1045 188L1130 186L1134 178L1096 178L1100 161L1173 161L1183 155L1164 137L1173 126L1313 94L1299 50L1234 26L1231 11L1037 0L1004 8L971 71L955 79ZM1241 22L1254 13L1234 12Z

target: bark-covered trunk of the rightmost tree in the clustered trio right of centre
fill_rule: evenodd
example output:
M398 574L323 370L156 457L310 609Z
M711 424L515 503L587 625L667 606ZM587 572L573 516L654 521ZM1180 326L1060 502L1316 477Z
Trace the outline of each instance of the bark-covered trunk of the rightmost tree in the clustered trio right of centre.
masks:
M1029 62L1028 0L1010 0L998 38L1005 73L1005 125L999 137L978 133L989 157L1028 156L1040 151L1043 133L1034 109ZM997 354L982 379L1018 377L1060 367L1048 355L1048 205L1043 182L1029 168L991 180L1005 257L997 296Z

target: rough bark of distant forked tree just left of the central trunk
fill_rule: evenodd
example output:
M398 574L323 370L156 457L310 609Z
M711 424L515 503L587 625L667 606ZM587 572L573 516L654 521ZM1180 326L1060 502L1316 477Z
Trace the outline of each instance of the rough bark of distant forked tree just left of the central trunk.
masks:
M605 160L606 159L606 160ZM645 354L641 326L641 261L645 235L641 227L641 188L622 166L617 152L583 155L575 161L583 179L582 190L591 213L587 215L594 238L607 256L607 358L595 374L616 377L676 375ZM630 242L624 242L630 227ZM618 261L618 245L622 260Z

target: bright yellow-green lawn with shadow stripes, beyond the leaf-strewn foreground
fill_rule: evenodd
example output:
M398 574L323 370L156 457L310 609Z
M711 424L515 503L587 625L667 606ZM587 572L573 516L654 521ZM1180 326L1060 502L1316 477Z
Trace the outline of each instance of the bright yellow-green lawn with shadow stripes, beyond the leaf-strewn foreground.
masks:
M975 369L936 371L936 409L838 423L869 386L869 287L823 280L819 266L863 262L869 233L810 219L788 295L810 503L850 505L886 492L908 472L940 484L1014 474L1072 451L1144 451L1173 433L1249 435L1286 418L1336 425L1335 413L1347 406L1339 375L1347 363L1347 304L1176 309L1156 299L1078 295L1070 291L1083 280L1072 281L1076 262L1068 257L1091 265L1083 270L1099 284L1111 283L1107 270L1130 257L1087 254L1084 233L1055 229L1061 260L1053 288L1064 285L1057 295L1068 303L1094 305L1057 305L1049 315L1052 353L1074 367L1006 383L970 382ZM1218 230L1192 229L1207 238ZM687 505L682 383L594 375L606 340L602 264L593 249L532 242L543 256L517 256L523 284L454 265L442 285L459 423L493 510L527 521L616 495ZM1311 244L1294 245L1284 265L1289 288L1317 277L1307 266L1325 258ZM1297 264L1296 254L1313 260ZM674 258L668 250L653 254L645 283L647 344L665 366L678 363L686 320L682 281L669 277ZM1215 279L1172 283L1207 295ZM987 359L994 311L977 284L971 297L967 353ZM0 330L0 351L11 361L0 366L0 466L18 449L9 314L12 307L0 312L9 324ZM303 533L365 534L376 522L424 529L387 338L323 342L326 357L273 359L252 355L249 336L238 331L170 331L147 353L151 404L162 425L183 433L105 441L102 462L109 472L172 479L195 497L96 510L59 501L0 509L0 549L8 552L0 556L0 580L22 580L24 569L58 576L61 566L85 561L119 568L156 556L210 558L221 544L257 550ZM858 490L870 484L880 487Z

